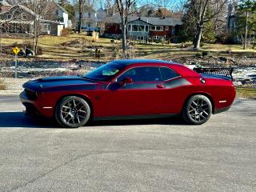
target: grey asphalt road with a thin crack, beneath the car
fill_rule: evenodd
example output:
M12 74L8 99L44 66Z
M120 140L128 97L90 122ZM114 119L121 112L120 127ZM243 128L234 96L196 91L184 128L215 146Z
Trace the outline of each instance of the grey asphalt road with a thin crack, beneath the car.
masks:
M256 100L176 118L62 129L0 98L1 191L256 191Z

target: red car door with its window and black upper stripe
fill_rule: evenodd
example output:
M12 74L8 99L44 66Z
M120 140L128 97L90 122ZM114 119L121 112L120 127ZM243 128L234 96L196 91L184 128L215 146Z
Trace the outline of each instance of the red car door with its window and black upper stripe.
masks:
M131 83L122 85L124 78ZM157 66L139 66L126 70L108 86L109 116L161 114L165 84Z

